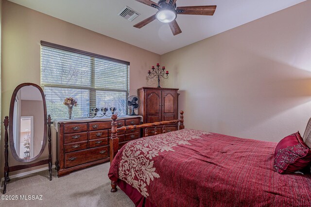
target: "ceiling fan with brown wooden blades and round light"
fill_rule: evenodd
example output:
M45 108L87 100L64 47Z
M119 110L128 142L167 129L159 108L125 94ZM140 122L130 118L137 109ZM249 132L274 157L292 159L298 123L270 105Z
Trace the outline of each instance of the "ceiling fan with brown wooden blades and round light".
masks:
M159 11L149 18L134 25L134 27L140 29L146 26L153 20L157 19L160 22L169 23L173 35L181 33L181 30L176 22L177 15L209 15L213 16L216 10L216 6L181 6L176 7L176 0L159 0L155 3L152 0L137 0L140 3L154 7Z

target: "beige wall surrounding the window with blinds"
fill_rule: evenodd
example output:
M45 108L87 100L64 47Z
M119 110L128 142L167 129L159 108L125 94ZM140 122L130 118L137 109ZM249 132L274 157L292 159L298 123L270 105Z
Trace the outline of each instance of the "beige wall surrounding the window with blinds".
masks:
M1 119L9 113L9 102L18 84L33 82L40 85L40 40L130 62L130 95L137 95L136 90L139 87L153 84L147 82L146 72L150 65L160 61L160 56L155 53L7 0L3 0L2 13ZM55 138L55 131L52 130L53 163L56 157ZM1 139L2 146L3 142ZM3 166L3 147L0 151L0 166ZM48 148L45 149L40 159L47 157ZM19 163L10 155L9 164ZM15 173L11 173L13 174ZM0 175L2 177L3 167L0 167Z

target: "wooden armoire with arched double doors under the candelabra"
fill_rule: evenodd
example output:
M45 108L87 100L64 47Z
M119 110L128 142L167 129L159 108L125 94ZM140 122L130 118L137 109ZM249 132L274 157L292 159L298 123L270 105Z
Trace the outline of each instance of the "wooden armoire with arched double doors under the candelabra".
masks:
M143 122L153 123L178 119L177 92L178 89L176 88L139 88L138 97L141 106L138 109L138 114L143 116ZM148 130L150 130L150 135L154 133L154 129ZM175 130L178 130L177 124L166 127L166 132ZM157 128L157 133L162 133L162 129Z

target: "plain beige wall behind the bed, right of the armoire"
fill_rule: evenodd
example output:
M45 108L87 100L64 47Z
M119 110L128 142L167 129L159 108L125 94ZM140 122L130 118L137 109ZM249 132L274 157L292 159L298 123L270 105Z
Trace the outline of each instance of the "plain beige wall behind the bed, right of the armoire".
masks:
M185 126L277 142L311 116L311 1L161 56Z

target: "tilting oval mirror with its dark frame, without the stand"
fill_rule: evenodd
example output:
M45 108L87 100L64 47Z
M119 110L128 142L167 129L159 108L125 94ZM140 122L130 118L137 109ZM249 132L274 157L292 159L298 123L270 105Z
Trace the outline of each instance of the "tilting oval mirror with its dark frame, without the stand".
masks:
M47 139L47 108L43 90L22 83L13 92L9 117L10 148L20 162L37 159Z

